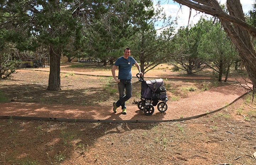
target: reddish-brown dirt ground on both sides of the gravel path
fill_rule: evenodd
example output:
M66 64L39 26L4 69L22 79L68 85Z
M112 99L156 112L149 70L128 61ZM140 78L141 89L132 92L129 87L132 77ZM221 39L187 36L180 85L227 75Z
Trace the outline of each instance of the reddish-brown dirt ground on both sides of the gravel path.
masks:
M17 103L18 106L41 104L42 107L96 106L100 110L108 107L111 111L109 104L118 98L118 93L113 78L108 77L109 69L65 67L64 64L62 70L65 71L91 72L107 77L61 73L60 91L46 90L48 72L19 70L11 80L0 81L0 92L9 102L0 103L1 109L4 105ZM148 77L163 75L183 76L171 72L166 66L147 74ZM209 75L194 75L195 78L198 76ZM164 83L170 103L203 96L206 91L234 84L207 79L164 79ZM140 82L134 78L133 97L127 106L136 106L133 102L140 99L140 88ZM216 113L180 122L0 119L0 164L255 165L255 107L255 102L251 104L251 97L247 95ZM73 114L76 113L74 110ZM3 115L1 110L0 115Z

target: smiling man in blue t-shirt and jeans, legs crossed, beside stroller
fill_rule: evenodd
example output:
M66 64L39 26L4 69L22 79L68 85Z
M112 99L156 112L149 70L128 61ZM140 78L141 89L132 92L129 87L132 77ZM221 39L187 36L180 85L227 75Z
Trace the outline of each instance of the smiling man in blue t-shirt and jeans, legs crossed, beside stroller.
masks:
M129 100L132 97L132 75L131 75L131 67L135 65L138 68L140 75L142 76L143 73L141 72L140 65L135 61L131 55L131 49L125 48L124 55L119 57L115 64L112 67L112 76L116 82L118 82L118 90L119 90L119 100L113 103L113 111L116 113L116 109L121 106L122 107L122 114L126 115L126 106L125 101ZM115 76L115 70L118 67L118 79ZM126 90L126 94L124 93Z

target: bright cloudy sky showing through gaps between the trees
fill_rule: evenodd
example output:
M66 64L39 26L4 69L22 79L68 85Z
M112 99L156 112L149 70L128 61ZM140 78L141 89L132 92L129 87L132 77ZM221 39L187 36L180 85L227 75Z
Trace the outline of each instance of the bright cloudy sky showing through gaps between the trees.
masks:
M153 0L156 3L158 0ZM220 4L225 4L226 0L220 0ZM248 13L252 10L252 5L254 0L240 0L244 13ZM171 15L172 18L178 18L178 25L187 26L189 20L189 8L187 6L182 6L180 9L180 4L174 2L173 0L160 0L160 5L164 8L164 12L167 16ZM192 9L191 18L189 24L195 24L200 19L202 14L197 14L198 11ZM156 27L157 28L157 27Z

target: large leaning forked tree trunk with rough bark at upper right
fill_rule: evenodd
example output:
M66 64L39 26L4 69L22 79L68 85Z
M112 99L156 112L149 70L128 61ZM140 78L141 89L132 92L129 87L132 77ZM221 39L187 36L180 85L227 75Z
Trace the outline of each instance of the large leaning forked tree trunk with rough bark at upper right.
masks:
M190 0L174 1L219 18L225 32L229 35L236 49L239 51L249 78L252 83L256 84L256 52L251 40L251 36L256 37L256 28L245 22L240 0L227 0L230 15L221 9L217 0L195 0L197 3Z

